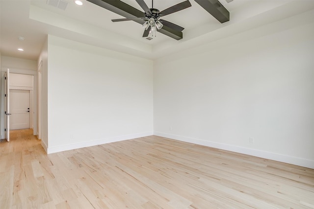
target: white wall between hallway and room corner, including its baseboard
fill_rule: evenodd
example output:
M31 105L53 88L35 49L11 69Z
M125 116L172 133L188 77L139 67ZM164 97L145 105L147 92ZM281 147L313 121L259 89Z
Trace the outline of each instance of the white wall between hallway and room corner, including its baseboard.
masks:
M153 134L152 61L54 36L48 57L48 153Z

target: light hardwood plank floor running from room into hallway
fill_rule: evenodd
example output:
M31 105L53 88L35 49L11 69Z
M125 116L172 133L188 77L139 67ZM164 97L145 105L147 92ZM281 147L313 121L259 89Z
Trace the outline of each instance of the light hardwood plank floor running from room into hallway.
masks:
M314 169L151 136L47 155L0 141L0 208L314 208Z

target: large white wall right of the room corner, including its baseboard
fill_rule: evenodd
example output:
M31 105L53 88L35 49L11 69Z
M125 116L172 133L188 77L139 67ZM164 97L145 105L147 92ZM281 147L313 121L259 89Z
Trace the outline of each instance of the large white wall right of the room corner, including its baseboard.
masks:
M314 168L309 15L157 60L154 134Z

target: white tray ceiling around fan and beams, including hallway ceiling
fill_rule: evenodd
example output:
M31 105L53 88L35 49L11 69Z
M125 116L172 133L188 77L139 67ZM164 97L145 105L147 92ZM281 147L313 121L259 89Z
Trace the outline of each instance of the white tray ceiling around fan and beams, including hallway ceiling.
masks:
M143 27L135 22L113 23L123 18L86 0L82 6L67 0L66 10L50 6L47 0L0 0L1 56L37 60L47 34L81 43L113 49L136 56L157 59L193 46L213 42L264 24L314 9L314 0L234 0L220 2L229 10L230 21L219 23L194 0L191 7L162 19L178 24L183 39L161 33L148 41ZM142 11L135 0L123 0ZM162 11L184 0L154 0ZM152 1L145 0L151 7ZM18 37L24 37L20 41ZM23 47L24 51L18 51Z

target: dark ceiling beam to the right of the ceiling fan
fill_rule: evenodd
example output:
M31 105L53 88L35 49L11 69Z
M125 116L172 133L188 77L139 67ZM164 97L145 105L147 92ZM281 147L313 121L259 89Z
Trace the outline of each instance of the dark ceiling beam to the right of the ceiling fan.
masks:
M230 21L229 11L218 0L195 0L220 23Z

